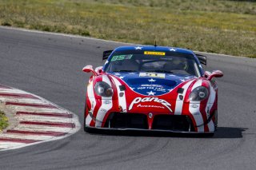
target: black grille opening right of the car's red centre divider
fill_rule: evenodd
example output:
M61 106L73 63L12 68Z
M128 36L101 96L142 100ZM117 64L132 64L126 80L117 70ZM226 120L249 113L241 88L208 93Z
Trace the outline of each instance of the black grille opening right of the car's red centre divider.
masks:
M152 129L194 132L190 117L183 115L156 115Z

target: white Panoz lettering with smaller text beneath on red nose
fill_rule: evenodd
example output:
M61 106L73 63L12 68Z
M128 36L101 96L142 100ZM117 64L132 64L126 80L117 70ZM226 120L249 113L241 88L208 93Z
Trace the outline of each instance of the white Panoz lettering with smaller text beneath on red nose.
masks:
M163 106L158 106L158 105L142 105L141 103L144 102L157 102L162 104ZM163 100L163 99L159 99L158 97L136 97L134 98L134 101L131 102L130 106L129 106L129 110L133 109L134 104L138 104L137 107L146 107L146 108L161 108L164 109L164 106L170 110L170 112L173 112L172 109L170 109L170 103Z

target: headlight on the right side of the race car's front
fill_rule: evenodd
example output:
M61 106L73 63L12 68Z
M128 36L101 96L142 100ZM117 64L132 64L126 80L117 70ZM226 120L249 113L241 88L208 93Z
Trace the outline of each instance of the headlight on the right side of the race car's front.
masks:
M209 95L208 89L203 86L199 86L192 90L190 93L190 101L202 101L205 100Z

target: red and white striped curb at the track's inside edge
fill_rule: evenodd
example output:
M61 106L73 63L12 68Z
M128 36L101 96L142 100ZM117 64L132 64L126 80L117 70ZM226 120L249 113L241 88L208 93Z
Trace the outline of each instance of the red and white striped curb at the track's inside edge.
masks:
M12 120L0 132L0 151L70 136L81 128L78 117L42 97L0 85L0 110Z

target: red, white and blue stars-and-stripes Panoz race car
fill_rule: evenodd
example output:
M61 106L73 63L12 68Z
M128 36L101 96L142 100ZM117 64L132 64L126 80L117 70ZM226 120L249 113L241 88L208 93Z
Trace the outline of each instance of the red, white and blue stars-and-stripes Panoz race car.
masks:
M206 57L191 50L121 46L103 52L105 65L92 73L86 91L84 130L208 133L218 125L218 87L205 72Z

